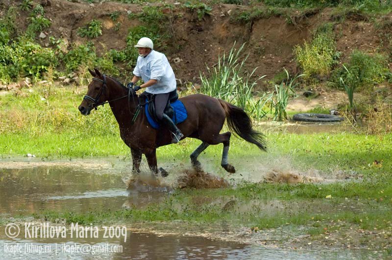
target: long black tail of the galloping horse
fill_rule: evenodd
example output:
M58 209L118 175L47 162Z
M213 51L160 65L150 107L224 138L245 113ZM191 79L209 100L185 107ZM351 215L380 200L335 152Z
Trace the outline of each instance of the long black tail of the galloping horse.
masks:
M258 148L266 151L266 141L264 134L253 130L252 120L246 112L239 107L231 105L230 103L219 99L221 106L226 112L226 120L229 129L238 134L241 138L249 143L255 144Z

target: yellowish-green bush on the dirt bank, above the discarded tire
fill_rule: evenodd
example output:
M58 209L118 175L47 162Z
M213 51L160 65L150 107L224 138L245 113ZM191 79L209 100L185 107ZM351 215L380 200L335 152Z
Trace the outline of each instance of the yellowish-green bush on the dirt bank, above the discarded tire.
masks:
M294 54L305 74L305 79L316 75L328 75L337 59L332 24L317 31L310 43L305 42L303 46L296 45Z

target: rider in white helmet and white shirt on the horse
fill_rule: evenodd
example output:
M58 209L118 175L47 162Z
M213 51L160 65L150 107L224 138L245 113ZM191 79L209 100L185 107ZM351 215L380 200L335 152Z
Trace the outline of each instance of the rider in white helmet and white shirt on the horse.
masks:
M175 76L165 54L154 50L151 39L143 37L135 45L139 51L139 57L133 70L132 82L128 87L132 87L140 78L144 83L134 88L135 91L146 88L147 93L154 95L154 105L156 117L169 127L174 137L172 143L178 143L184 136L172 119L163 111L169 101L169 94L176 91Z

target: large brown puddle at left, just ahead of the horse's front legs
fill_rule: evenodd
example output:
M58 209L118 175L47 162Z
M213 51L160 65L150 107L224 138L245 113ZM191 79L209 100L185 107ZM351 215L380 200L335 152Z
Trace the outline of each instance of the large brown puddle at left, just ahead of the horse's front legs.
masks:
M41 210L69 210L85 212L97 209L118 210L122 207L145 207L150 202L159 202L168 194L161 189L149 193L126 190L123 174L118 170L109 173L110 168L95 163L87 163L96 170L88 172L83 167L63 165L37 166L39 163L0 164L0 214L26 215ZM97 166L100 165L100 166ZM55 165L55 164L54 164ZM76 163L76 165L78 165ZM7 169L1 169L1 166ZM144 187L140 187L144 188Z

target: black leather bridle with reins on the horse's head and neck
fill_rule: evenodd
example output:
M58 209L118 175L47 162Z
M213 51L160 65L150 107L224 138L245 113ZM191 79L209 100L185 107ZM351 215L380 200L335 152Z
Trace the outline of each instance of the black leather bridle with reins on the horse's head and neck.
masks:
M126 94L126 95L124 95L124 96L122 96L122 97L119 97L119 98L116 98L116 99L112 99L112 100L108 100L108 101L105 101L105 102L99 102L99 98L102 96L102 94L105 92L105 89L106 89L106 77L109 77L109 76L106 76L105 74L103 74L103 80L98 79L98 78L93 78L93 80L95 80L95 81L102 82L101 91L99 92L99 94L98 94L98 96L97 96L96 98L93 98L93 97L90 97L90 96L88 96L88 95L85 95L85 96L83 97L83 99L87 101L87 104L88 104L88 106L89 106L90 109L94 109L94 108L95 108L95 109L97 110L97 107L98 107L98 106L101 106L101 105L102 105L102 107L103 107L103 105L105 105L105 104L107 104L107 103L109 103L109 102L116 101L116 100L119 100L119 99L123 99L123 98L128 97L128 109L129 109L129 112L133 115L133 118L132 118L132 124L133 124L133 123L136 121L136 118L137 118L137 116L139 115L141 108L142 108L144 105L146 105L146 104L141 105L140 102L139 102L139 99L136 98L137 101L138 101L138 105L137 105L137 107L135 107L135 108L136 108L136 111L135 111L135 112L132 112L132 108L131 108L131 97L132 97L132 101L133 101L133 102L135 102L135 97L137 97L136 92L135 92L135 90L133 90L132 87L125 87L125 88L127 88L127 90L128 90L128 94ZM120 85L121 85L122 87L124 87L121 83L120 83ZM89 101L90 101L91 103L89 103Z

